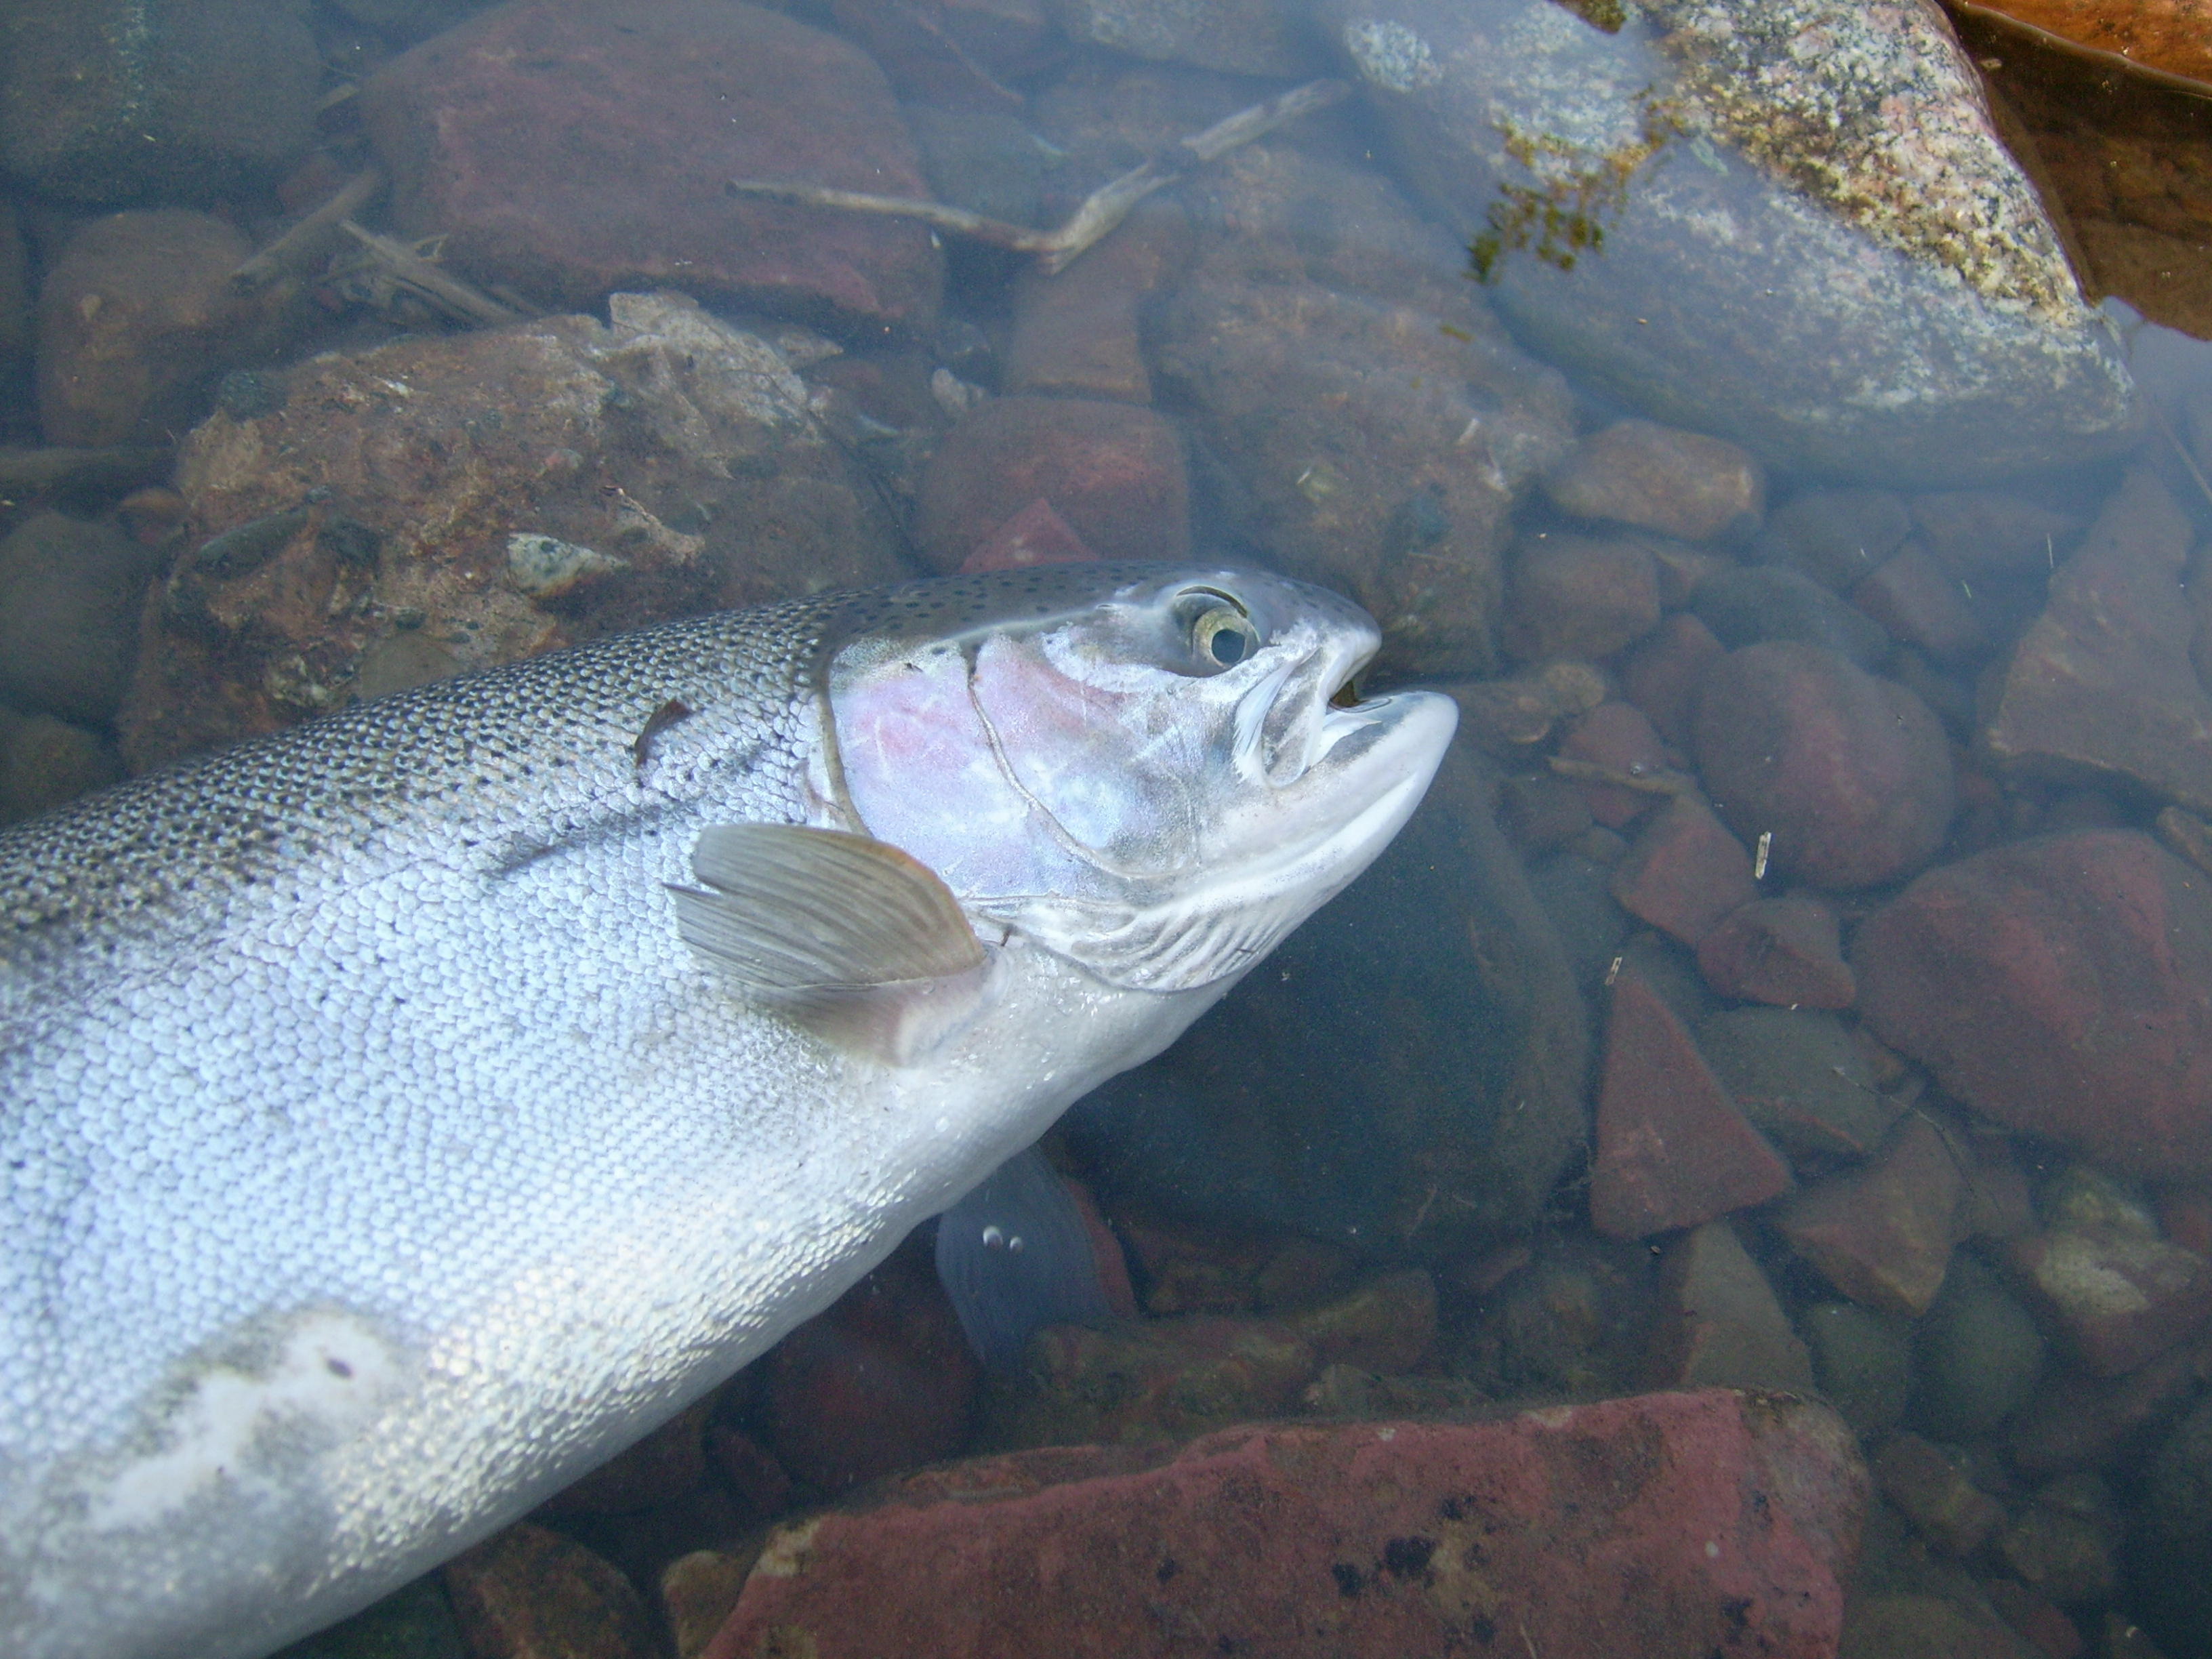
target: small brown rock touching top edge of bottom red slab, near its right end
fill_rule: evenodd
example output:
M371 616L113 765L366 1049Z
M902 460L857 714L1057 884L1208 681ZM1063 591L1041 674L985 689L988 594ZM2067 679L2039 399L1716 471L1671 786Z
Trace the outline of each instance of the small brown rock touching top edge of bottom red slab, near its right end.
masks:
M1646 1360L1650 1380L1663 1387L1814 1385L1812 1354L1725 1221L1708 1221L1668 1248Z

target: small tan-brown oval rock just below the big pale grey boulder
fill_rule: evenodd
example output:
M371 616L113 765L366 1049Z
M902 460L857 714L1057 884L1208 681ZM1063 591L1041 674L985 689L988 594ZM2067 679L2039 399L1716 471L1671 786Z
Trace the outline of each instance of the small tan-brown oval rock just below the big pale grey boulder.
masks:
M1544 493L1562 513L1686 542L1756 524L1767 500L1759 462L1736 445L1650 420L1619 420L1584 438L1544 476Z

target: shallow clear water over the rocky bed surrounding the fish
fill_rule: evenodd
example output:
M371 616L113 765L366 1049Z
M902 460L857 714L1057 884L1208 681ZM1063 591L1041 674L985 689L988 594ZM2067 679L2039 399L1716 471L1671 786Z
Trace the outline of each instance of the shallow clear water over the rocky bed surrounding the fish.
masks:
M947 1221L967 1294L1104 1338L984 1374L925 1228L301 1652L522 1650L535 1571L593 1652L692 1655L770 1526L922 1464L1672 1387L1843 1413L1845 1652L2212 1652L2201 88L1812 0L11 29L11 821L672 615L1086 557L1321 582L1369 686L1462 708L1376 867L1046 1137L1057 1298ZM1400 1546L1303 1650L1385 1650Z

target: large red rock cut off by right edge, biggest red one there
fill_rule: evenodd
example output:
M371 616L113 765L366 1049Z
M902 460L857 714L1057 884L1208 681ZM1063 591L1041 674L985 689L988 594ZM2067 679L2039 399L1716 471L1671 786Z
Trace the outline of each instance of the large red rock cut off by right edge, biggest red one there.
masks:
M1936 869L1851 964L1874 1033L1984 1117L2128 1175L2212 1175L2212 885L2150 836Z

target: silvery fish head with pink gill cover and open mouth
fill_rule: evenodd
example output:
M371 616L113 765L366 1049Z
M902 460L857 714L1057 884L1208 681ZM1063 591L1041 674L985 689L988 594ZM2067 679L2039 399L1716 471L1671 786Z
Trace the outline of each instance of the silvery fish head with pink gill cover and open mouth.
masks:
M1354 695L1378 646L1347 599L1232 566L914 584L825 646L821 787L984 942L1219 984L1369 865L1451 741L1449 697Z

